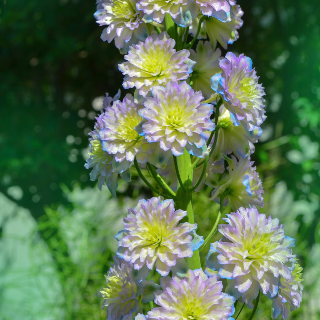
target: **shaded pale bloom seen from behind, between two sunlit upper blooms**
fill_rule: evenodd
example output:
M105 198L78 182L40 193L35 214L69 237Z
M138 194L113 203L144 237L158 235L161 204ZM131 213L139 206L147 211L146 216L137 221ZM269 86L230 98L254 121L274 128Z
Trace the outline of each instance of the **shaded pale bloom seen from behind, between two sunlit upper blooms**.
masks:
M196 65L192 69L192 88L196 91L201 90L205 99L209 99L215 94L211 89L211 77L221 72L220 56L220 49L213 51L209 41L199 41L196 51L190 49L190 59L196 61Z

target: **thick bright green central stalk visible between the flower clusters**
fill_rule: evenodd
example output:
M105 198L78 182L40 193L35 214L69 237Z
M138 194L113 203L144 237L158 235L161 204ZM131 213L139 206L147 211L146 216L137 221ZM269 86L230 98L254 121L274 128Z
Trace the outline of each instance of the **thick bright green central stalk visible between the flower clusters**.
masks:
M175 202L175 207L176 209L186 210L188 222L195 223L192 207L192 191L190 190L192 188L193 168L191 165L190 154L186 149L184 149L183 155L176 157L176 162L183 186L181 187L179 183L176 193L178 200ZM186 258L186 261L189 268L192 270L201 268L198 250L193 252L193 256L191 258Z

